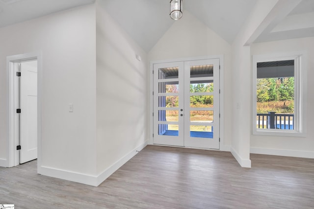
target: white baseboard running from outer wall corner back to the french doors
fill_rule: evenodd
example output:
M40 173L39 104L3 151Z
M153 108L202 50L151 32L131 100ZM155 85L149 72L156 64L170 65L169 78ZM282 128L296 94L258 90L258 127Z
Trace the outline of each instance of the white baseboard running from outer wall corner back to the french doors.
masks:
M97 186L102 184L111 174L118 170L124 163L127 163L132 157L134 157L138 153L137 151L141 151L144 147L146 147L147 143L148 141L145 141L144 143L133 149L130 153L122 157L119 161L105 169L100 175L98 175Z

